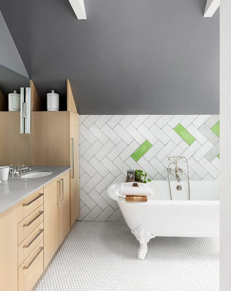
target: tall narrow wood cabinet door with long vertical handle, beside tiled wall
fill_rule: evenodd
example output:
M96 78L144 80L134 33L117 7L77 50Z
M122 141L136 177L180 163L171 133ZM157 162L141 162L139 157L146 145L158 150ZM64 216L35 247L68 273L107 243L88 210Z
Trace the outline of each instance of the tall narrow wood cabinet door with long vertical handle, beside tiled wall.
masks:
M79 115L70 114L70 144L71 144L71 226L79 216Z

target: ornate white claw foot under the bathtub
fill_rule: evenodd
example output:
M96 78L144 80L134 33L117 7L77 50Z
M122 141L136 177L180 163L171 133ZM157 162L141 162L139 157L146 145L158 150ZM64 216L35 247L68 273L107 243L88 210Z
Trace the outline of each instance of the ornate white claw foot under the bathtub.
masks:
M134 234L139 241L138 259L143 260L148 251L147 243L150 239L154 238L155 235L149 234L142 225L139 225L134 231L131 231L131 233Z

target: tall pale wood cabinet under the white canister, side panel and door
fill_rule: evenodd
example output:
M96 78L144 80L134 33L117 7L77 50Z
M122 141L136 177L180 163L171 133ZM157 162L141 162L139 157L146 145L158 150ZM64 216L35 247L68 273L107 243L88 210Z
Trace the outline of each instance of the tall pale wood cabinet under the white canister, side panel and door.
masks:
M32 166L72 166L70 226L79 215L78 113L31 112Z

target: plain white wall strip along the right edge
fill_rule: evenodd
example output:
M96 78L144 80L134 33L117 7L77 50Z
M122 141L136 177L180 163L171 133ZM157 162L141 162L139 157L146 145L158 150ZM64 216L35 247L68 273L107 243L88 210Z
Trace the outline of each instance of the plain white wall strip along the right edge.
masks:
M220 4L220 291L231 290L231 1Z

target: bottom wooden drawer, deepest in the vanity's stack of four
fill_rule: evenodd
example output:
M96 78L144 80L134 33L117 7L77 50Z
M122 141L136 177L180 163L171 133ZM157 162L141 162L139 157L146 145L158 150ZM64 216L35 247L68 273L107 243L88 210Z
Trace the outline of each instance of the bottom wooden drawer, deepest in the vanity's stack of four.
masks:
M43 239L18 268L18 291L31 291L43 272Z

